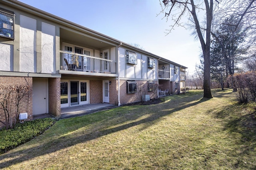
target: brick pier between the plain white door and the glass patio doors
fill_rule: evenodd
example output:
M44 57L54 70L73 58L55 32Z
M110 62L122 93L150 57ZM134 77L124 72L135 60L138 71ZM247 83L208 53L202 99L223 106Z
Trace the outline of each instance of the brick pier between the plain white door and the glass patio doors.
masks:
M49 78L49 113L60 117L60 78Z

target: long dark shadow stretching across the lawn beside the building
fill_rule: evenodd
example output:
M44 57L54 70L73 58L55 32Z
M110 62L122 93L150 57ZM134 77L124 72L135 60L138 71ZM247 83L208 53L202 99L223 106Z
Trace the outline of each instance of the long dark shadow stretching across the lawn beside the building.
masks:
M201 98L201 100L200 100L200 98ZM42 143L41 145L38 145L38 146L32 147L32 148L28 148L28 149L24 149L22 151L12 150L9 153L0 155L0 160L2 160L4 158L13 158L6 162L0 163L0 168L5 168L5 167L10 166L11 164L16 164L18 162L30 160L37 156L42 156L44 154L56 152L58 150L65 149L67 147L76 145L78 143L84 143L86 141L90 141L90 140L96 139L98 137L102 137L104 135L122 131L124 129L134 127L136 125L144 124L144 128L146 128L149 125L152 125L152 123L154 123L154 121L156 121L160 117L172 114L174 111L179 111L186 107L195 106L197 104L205 102L206 100L207 99L202 98L202 95L195 95L195 96L186 95L186 98L181 98L181 99L175 98L174 96L170 96L170 97L166 98L166 101L168 101L168 102L160 103L157 105L125 106L125 107L118 107L116 109L110 109L106 112L100 112L100 113L104 113L104 115L102 117L99 116L99 118L97 118L97 121L91 122L91 123L90 123L90 121L82 122L82 123L80 122L80 125L78 124L78 126L75 126L74 129L71 128L72 132L75 133L75 131L77 129L86 127L86 123L88 123L93 126L92 127L93 131L86 130L86 131L83 131L84 133L77 133L76 135L74 135L74 133L70 134L70 132L67 133L67 131L65 131L66 133L63 133L63 134L54 134L54 135L58 135L58 138L49 140L46 143L44 143L44 141L42 141L42 139L41 139L41 136L39 136L37 139L34 139L34 140L37 140L38 143ZM174 108L172 108L172 107L174 107ZM118 109L120 109L120 110L122 109L122 112L120 111L118 113ZM127 111L125 114L123 113L123 109L126 109L126 111ZM115 113L114 114L111 113L111 110L112 110L112 112L115 111ZM100 115L100 113L98 113L98 115ZM107 114L109 114L109 115L107 115ZM107 115L107 116L104 117L105 115ZM138 121L135 121L136 119L139 119L140 117L145 116L145 115L148 115L148 117L146 117L144 119L140 119ZM85 116L90 117L92 115L85 115ZM81 119L82 119L82 117L81 117ZM72 120L73 119L71 118L70 121L72 121ZM99 125L101 123L103 124L103 126ZM123 123L126 123L126 124L123 124ZM122 125L120 125L120 124L122 124ZM118 125L120 125L120 126L118 126ZM56 125L54 125L54 126L56 126ZM108 127L112 127L112 126L117 126L117 127L108 128ZM52 130L52 128L50 130Z

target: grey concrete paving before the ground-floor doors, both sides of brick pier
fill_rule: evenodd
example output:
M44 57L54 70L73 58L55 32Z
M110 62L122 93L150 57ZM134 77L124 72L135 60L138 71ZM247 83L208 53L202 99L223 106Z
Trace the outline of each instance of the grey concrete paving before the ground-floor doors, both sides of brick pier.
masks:
M112 109L118 107L116 105L112 104L107 104L107 103L100 103L100 104L84 104L84 105L79 105L79 106L70 106L70 107L65 107L61 108L60 111L60 119L65 119L69 117L76 117L76 116L81 116L81 115L86 115L94 112L98 112L101 110L106 110L106 109ZM42 114L42 115L35 115L33 119L41 119L41 118L46 118L46 117L54 117L51 114Z

